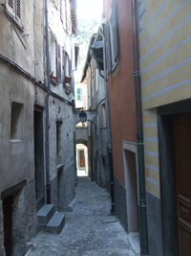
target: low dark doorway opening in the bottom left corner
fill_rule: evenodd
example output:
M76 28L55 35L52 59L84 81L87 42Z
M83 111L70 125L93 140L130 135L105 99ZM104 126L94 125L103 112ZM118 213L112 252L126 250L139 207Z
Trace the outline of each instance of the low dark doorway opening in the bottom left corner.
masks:
M12 255L12 196L3 199L4 246L6 255Z

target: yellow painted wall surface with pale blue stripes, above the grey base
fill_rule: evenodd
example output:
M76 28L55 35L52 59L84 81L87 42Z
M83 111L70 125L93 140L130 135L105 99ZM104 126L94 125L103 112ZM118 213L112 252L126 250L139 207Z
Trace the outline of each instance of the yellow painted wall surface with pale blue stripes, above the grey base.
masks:
M139 18L145 178L147 191L159 197L156 107L191 97L191 1L145 2Z

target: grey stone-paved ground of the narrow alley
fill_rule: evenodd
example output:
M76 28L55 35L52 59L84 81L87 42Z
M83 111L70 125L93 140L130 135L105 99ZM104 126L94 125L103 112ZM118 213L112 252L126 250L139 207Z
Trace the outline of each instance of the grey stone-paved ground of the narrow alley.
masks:
M136 256L128 236L116 217L110 215L109 193L78 177L73 209L65 213L66 224L59 235L40 231L32 239L36 249L30 256ZM116 221L115 221L116 220ZM115 222L112 222L115 221Z

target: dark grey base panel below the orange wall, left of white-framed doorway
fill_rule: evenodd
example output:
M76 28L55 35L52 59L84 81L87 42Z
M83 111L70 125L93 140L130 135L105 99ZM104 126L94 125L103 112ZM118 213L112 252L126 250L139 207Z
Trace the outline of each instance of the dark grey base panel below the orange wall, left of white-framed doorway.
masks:
M128 232L128 223L127 223L127 203L126 203L126 190L124 186L117 179L117 176L114 175L114 184L115 184L115 209L117 219L120 221L124 230Z

